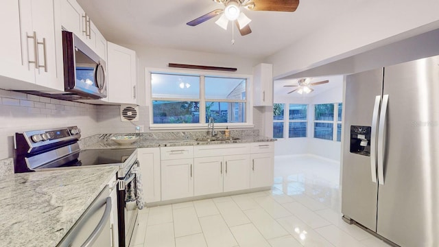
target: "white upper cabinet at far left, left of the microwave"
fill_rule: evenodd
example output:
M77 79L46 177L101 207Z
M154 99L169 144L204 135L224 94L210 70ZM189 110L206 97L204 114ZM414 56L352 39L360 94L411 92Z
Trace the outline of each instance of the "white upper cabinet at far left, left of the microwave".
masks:
M3 82L5 89L64 91L59 1L5 1L0 75L30 84ZM34 85L34 86L32 86Z

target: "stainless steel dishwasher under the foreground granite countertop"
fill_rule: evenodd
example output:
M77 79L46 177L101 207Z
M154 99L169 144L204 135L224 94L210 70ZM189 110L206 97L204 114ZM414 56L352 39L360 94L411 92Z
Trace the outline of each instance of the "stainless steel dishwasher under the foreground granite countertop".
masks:
M112 246L110 235L111 198L108 185L72 226L59 247Z

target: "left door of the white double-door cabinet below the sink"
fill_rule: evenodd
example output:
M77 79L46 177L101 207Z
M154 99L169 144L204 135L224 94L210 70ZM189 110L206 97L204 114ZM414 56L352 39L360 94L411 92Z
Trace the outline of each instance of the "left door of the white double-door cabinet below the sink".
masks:
M193 159L193 195L202 196L223 191L222 156Z

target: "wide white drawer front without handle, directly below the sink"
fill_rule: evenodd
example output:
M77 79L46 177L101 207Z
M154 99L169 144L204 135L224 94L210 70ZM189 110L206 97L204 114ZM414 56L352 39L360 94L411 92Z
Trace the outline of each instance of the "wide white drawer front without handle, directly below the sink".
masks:
M218 145L198 145L193 148L193 156L209 157L234 154L250 154L249 143L230 143Z

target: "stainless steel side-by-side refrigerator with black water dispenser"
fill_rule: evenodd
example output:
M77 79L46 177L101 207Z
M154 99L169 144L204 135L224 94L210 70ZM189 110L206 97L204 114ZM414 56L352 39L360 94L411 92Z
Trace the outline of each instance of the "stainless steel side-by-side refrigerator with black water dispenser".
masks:
M343 106L345 221L439 246L439 56L348 75Z

